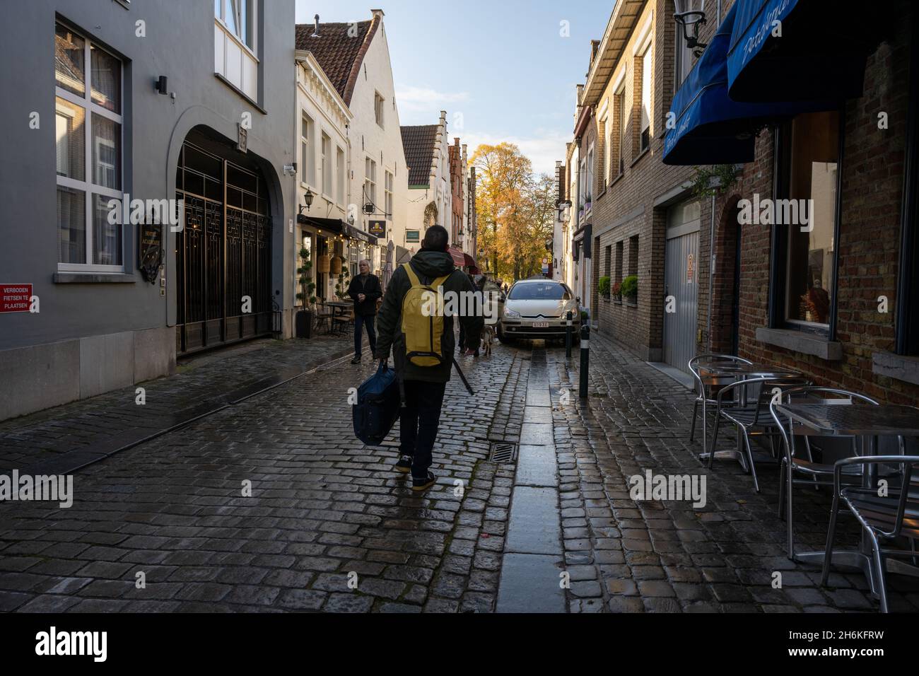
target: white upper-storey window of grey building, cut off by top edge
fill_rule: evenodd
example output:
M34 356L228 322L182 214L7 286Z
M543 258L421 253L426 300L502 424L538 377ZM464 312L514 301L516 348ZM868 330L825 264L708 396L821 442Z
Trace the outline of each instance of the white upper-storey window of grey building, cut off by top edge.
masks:
M258 95L256 0L214 0L214 72L245 96Z

